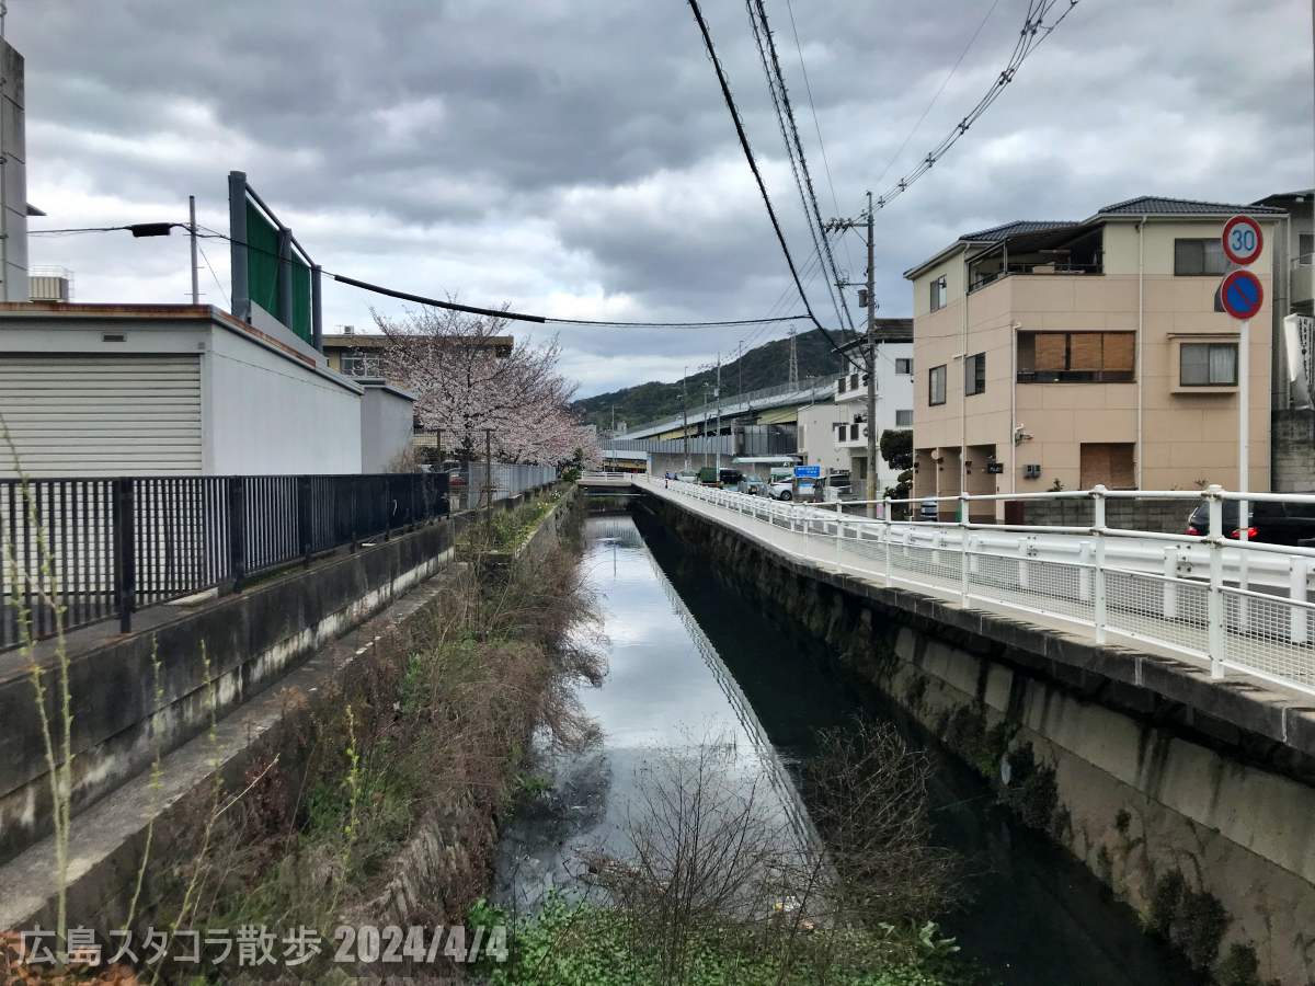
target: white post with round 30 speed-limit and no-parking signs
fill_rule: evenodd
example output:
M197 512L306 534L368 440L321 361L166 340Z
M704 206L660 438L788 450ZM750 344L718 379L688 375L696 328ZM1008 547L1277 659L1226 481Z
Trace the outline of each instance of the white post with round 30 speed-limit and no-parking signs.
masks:
M1265 237L1260 231L1260 223L1253 218L1233 216L1224 223L1220 243L1224 248L1224 256L1240 267L1248 267L1260 259L1260 252L1265 248ZM1265 289L1251 271L1233 271L1219 285L1219 300L1224 312L1240 322L1237 326L1237 492L1245 497L1251 485L1248 477L1251 465L1251 319L1260 313L1265 304ZM1248 506L1245 500L1237 501L1237 540L1243 543L1248 540L1247 535L1251 527ZM1224 536L1228 536L1227 531ZM1245 592L1245 551L1241 552L1239 569L1237 588ZM1243 596L1239 602L1239 617L1245 626L1249 609L1247 597Z

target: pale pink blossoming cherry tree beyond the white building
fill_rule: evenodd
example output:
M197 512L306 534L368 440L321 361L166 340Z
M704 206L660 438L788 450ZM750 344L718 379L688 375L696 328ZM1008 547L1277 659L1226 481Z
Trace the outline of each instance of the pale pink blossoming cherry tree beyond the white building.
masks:
M373 316L388 338L387 376L417 396L421 426L439 429L455 458L483 458L489 429L493 455L504 461L602 460L593 430L571 411L575 385L558 372L556 339L506 352L505 318L431 308Z

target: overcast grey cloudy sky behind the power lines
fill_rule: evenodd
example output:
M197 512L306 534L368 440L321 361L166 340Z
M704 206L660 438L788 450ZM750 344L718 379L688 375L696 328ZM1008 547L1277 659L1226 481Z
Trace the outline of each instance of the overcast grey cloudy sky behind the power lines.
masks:
M826 214L911 170L1009 58L1026 0L767 0ZM1056 8L1063 9L1064 0ZM187 218L226 231L243 170L325 268L577 318L800 310L681 0L9 0L26 58L33 227ZM797 262L813 251L744 4L704 0ZM1312 181L1307 0L1081 0L1016 82L877 217L881 314L961 233L1155 193L1252 201ZM894 158L894 162L892 159ZM832 201L831 184L836 201ZM204 241L205 301L227 247ZM33 237L79 301L184 301L187 242ZM861 276L856 238L839 248ZM782 294L785 296L782 300ZM832 325L822 280L813 305ZM780 304L777 304L780 300ZM343 285L325 325L401 305ZM857 314L857 312L855 312ZM517 338L527 335L515 330ZM563 329L580 394L677 379L756 330ZM540 330L542 338L542 330ZM782 377L785 368L782 367Z

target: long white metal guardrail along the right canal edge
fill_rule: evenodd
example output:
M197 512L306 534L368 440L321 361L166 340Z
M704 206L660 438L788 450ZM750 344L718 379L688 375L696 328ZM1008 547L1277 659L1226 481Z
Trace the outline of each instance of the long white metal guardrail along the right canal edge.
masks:
M1224 501L1315 504L1315 496L1249 493L1216 486L1203 536L1107 527L1111 498L1180 500L1181 490L1094 490L1013 496L942 497L1089 500L1090 527L1022 527L977 522L885 521L842 513L855 504L814 506L777 502L692 482L648 477L693 500L792 531L793 547L822 567L909 586L963 606L1034 614L1095 643L1122 640L1201 661L1211 677L1243 670L1315 694L1315 605L1310 601L1315 550L1237 542L1224 535ZM882 517L892 504L882 501ZM1184 519L1191 504L1184 510ZM802 548L802 551L800 550Z

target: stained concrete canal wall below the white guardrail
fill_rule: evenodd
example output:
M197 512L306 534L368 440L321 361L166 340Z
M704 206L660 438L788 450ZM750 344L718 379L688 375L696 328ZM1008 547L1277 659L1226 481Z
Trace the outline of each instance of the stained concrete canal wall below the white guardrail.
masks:
M825 640L1224 977L1315 981L1315 699L884 589L655 496L643 507Z

